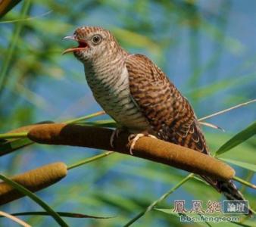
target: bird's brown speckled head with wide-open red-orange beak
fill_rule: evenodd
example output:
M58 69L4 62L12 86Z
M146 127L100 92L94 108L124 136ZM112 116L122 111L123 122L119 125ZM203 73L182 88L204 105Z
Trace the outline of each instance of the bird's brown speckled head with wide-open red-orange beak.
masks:
M93 61L101 56L107 56L113 47L117 46L114 36L98 26L81 26L64 39L73 39L78 43L77 47L67 48L63 54L73 52L80 61Z

